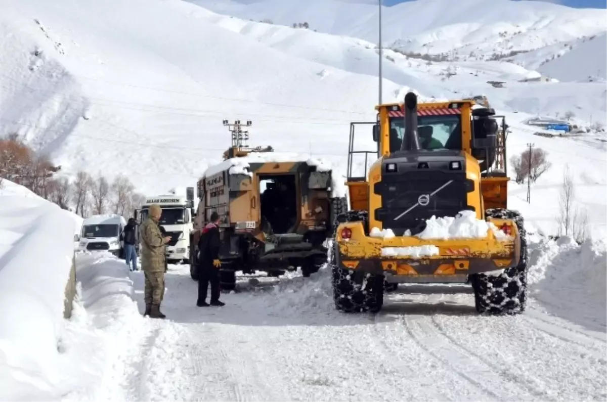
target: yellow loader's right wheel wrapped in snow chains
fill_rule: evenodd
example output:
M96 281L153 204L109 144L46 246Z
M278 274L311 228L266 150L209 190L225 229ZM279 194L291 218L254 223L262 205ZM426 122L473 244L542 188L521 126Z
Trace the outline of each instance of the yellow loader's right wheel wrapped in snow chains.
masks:
M521 251L516 267L507 268L501 274L470 276L476 311L495 315L520 314L527 303L527 233L523 217L518 211L502 208L487 210L486 216L514 220L521 238Z

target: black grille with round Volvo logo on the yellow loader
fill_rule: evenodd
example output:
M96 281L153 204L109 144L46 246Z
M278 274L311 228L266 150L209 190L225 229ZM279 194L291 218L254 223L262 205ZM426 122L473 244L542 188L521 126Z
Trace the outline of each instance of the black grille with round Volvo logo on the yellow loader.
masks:
M382 197L375 219L381 221L384 228L392 229L396 236L402 236L406 230L415 235L426 228L426 219L433 215L455 216L459 211L472 209L467 205L467 192L473 189L474 183L466 179L464 172L384 174L382 182L375 185L375 193ZM419 203L422 196L430 196L427 205ZM422 199L422 203L424 201Z

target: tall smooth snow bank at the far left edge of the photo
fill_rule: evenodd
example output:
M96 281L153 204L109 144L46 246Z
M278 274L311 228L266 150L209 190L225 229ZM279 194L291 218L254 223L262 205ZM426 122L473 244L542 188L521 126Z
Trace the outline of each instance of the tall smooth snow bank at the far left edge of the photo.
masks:
M75 220L53 203L2 181L0 191L0 400L14 382L48 388L63 328L64 291L73 259ZM44 381L32 378L46 378ZM6 397L2 397L5 395Z

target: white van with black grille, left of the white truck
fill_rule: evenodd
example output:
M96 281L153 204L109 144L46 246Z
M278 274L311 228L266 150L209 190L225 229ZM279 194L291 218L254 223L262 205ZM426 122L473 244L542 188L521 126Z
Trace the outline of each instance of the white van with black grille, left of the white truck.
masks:
M120 239L126 220L116 214L93 215L84 219L78 238L78 251L109 251L124 258L124 243Z

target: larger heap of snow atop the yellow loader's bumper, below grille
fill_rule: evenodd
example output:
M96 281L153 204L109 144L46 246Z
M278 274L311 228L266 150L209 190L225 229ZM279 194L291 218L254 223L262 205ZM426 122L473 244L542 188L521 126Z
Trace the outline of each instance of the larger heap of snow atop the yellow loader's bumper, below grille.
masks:
M416 236L420 239L465 239L483 238L492 230L498 240L508 239L507 234L485 220L476 219L474 211L461 211L456 217L432 218L426 220L426 229Z

